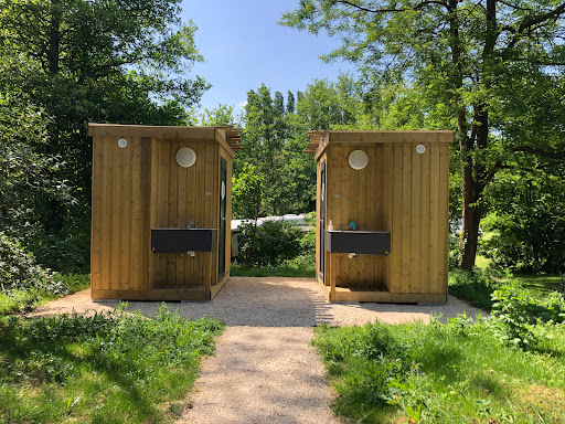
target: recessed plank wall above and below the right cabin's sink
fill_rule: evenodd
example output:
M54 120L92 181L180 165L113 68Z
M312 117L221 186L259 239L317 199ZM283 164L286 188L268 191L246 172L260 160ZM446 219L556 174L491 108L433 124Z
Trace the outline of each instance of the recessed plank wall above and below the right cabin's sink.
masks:
M354 170L349 155L363 150L367 166ZM330 145L327 149L327 215L334 230L347 230L355 221L361 230L391 231L391 145ZM321 163L321 161L320 161ZM319 248L319 247L318 247ZM386 256L326 253L327 283L359 290L385 290L388 278Z

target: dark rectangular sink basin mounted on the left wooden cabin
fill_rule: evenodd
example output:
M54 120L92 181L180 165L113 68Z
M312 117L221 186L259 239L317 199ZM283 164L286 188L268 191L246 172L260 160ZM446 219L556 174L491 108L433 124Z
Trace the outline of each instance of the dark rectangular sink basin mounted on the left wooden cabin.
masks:
M151 229L153 253L212 252L216 229Z

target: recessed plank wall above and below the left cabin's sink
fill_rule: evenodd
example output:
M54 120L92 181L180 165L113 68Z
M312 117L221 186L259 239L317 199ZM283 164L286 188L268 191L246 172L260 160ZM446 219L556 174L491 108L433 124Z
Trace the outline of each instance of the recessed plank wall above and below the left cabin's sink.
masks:
M190 147L196 161L190 168L177 163L177 151ZM216 142L193 139L153 139L151 177L151 227L217 227L218 162ZM217 253L195 256L152 254L150 288L206 289L217 279ZM210 278L210 279L207 279Z

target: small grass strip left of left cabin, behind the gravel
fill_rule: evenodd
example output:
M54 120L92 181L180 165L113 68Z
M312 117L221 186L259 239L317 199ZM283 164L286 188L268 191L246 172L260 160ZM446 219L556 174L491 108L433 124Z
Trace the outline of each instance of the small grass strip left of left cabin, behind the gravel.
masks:
M84 290L90 287L89 274L63 274L61 280L68 288L68 293ZM12 290L9 295L0 292L0 317L30 311L36 306L61 297L62 294L53 295L38 289Z

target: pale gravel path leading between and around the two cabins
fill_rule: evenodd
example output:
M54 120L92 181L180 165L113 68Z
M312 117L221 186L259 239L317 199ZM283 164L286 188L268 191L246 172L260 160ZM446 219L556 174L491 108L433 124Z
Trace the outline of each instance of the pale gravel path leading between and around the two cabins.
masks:
M110 310L116 301L93 301L84 290L39 308L34 316ZM160 303L130 301L128 309L153 316ZM228 327L216 356L206 358L189 423L338 423L323 364L310 346L312 327L441 320L479 309L454 297L445 305L330 304L315 279L232 277L213 301L168 303L186 318L218 318Z

